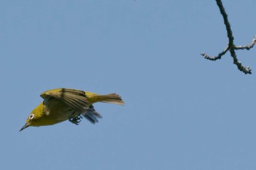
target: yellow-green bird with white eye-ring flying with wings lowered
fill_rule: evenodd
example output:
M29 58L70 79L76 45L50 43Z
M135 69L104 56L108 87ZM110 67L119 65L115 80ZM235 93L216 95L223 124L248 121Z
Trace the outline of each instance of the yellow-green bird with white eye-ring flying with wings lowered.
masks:
M47 90L40 96L44 98L44 101L31 112L20 131L29 126L53 125L65 120L78 125L82 118L81 115L91 123L97 123L97 118L102 116L92 104L105 102L124 105L121 96L116 93L99 95L83 90L57 88Z

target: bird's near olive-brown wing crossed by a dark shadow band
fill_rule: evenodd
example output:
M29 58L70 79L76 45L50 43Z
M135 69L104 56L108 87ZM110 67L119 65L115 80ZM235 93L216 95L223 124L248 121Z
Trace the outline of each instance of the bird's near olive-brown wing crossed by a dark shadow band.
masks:
M82 90L58 88L45 91L40 96L45 100L52 97L57 98L78 112L85 112L89 108L89 101Z

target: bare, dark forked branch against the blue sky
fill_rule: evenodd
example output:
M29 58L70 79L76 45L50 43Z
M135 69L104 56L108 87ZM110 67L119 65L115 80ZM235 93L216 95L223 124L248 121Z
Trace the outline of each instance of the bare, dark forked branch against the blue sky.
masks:
M236 64L236 66L238 67L238 69L241 72L244 72L244 74L252 74L251 70L249 68L249 66L243 66L242 63L240 61L238 61L237 55L236 55L236 51L235 50L249 50L251 49L255 43L256 43L256 36L254 39L252 39L252 43L249 45L241 45L241 46L236 46L234 45L234 37L232 34L232 30L231 30L231 26L229 21L227 20L227 13L225 12L225 8L223 7L222 1L221 0L216 0L217 5L219 7L220 13L222 14L223 20L224 20L224 24L226 26L226 30L227 30L227 38L228 38L228 45L225 48L225 50L222 51L222 53L219 53L219 55L211 57L209 55L206 55L206 53L201 53L201 55L203 55L204 58L211 60L211 61L216 61L218 59L222 58L222 55L225 55L225 53L227 52L227 50L230 51L231 56L233 57L233 63Z

